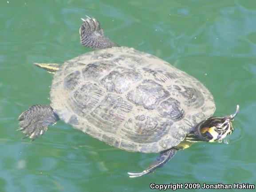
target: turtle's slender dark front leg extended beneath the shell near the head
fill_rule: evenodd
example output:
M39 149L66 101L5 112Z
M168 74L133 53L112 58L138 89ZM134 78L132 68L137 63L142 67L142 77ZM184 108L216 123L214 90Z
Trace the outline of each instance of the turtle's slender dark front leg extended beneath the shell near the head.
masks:
M129 177L141 177L143 175L154 173L154 170L164 166L176 154L176 151L177 150L174 148L162 151L156 161L154 161L154 163L152 163L146 170L141 173L128 173L130 175Z

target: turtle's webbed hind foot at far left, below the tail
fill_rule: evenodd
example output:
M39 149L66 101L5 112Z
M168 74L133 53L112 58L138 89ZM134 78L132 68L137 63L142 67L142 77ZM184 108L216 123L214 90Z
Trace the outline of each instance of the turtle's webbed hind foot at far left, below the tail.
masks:
M33 105L24 111L18 120L20 129L17 131L22 131L25 134L24 138L29 136L33 141L39 135L44 134L50 125L56 123L59 117L49 105Z

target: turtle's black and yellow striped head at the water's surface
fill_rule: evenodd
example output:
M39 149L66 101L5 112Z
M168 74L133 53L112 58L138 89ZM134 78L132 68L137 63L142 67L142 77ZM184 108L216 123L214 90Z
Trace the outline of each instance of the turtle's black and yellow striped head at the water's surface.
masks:
M221 140L234 131L232 121L237 115L239 105L236 106L236 112L224 117L210 117L199 123L193 133L187 135L190 141L215 142Z

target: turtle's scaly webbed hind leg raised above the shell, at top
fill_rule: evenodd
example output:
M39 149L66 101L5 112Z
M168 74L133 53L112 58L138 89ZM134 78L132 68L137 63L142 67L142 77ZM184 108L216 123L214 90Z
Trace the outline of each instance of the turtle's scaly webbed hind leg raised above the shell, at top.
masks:
M108 38L104 36L104 31L95 18L87 16L87 19L82 20L83 24L80 27L79 33L80 41L83 46L94 49L104 49L118 46L118 44L111 42Z

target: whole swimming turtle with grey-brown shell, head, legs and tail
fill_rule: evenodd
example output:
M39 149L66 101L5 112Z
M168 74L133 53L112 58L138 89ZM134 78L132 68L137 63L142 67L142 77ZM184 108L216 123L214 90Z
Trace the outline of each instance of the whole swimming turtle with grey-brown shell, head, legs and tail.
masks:
M213 95L191 75L162 59L119 46L87 16L79 29L83 46L95 49L63 64L35 63L53 73L49 105L32 105L18 130L32 140L59 119L110 146L159 153L141 173L154 173L194 142L220 141L234 129L232 115L213 117Z

